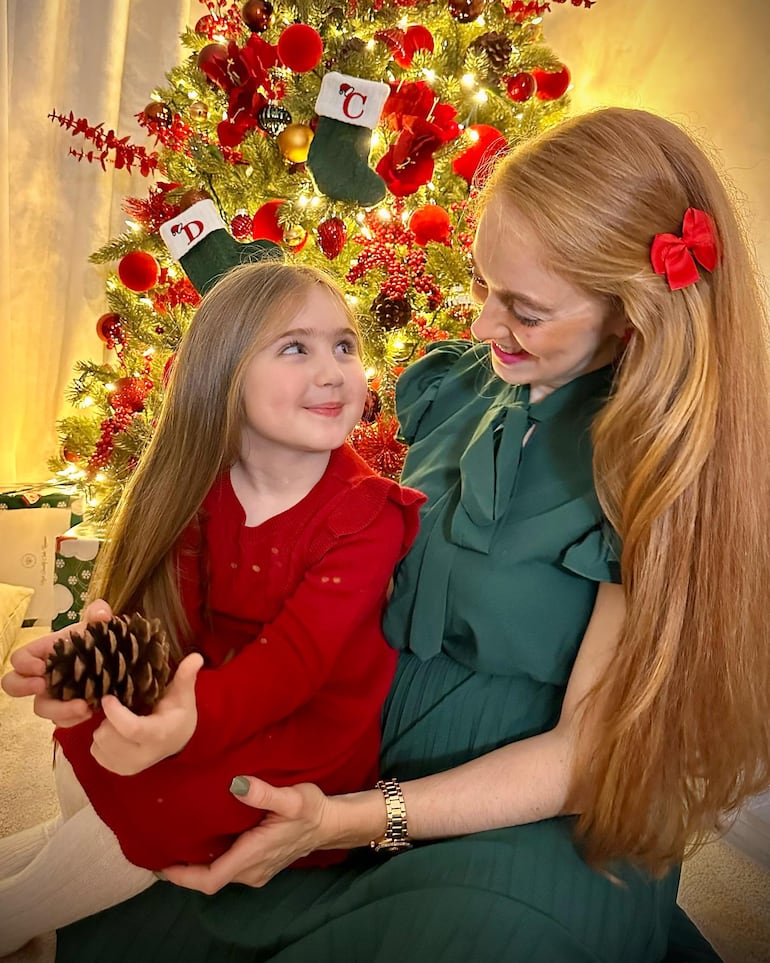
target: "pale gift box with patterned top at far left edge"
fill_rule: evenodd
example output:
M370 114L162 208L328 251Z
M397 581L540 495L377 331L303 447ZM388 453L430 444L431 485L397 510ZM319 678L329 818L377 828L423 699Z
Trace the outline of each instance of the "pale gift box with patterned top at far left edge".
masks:
M82 517L82 498L73 485L0 485L0 582L35 590L28 624L48 626L58 611L53 597L56 536Z

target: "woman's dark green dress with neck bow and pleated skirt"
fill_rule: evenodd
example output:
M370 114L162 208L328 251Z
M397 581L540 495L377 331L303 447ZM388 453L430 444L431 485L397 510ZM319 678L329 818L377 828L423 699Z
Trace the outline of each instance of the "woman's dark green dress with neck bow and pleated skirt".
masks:
M598 583L619 581L590 440L611 374L530 405L528 388L493 374L485 346L445 342L402 375L403 480L429 500L385 619L402 654L383 773L441 771L557 721ZM210 898L158 884L63 931L57 959L717 959L676 910L678 873L652 881L615 865L613 882L582 861L572 828L550 819L391 858L360 851Z

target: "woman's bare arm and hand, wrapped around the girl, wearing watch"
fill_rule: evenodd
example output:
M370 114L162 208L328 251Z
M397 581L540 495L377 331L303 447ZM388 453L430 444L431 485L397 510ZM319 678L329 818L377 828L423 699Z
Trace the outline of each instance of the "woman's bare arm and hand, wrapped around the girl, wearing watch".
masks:
M622 587L600 585L553 729L455 769L402 783L412 839L459 836L564 814L582 702L612 658L624 616ZM590 723L584 735L591 737ZM229 882L262 886L300 856L316 849L365 846L385 831L379 790L327 797L310 784L276 789L258 779L248 783L243 801L268 810L267 818L211 866L167 870L172 882L206 893Z

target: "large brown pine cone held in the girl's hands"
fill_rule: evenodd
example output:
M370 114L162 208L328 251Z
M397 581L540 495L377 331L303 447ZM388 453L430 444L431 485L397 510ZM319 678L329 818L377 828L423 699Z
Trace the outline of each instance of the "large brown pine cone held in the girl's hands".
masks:
M169 643L158 619L115 616L89 622L57 639L46 664L48 694L67 702L85 699L99 708L114 695L129 709L149 712L169 677Z

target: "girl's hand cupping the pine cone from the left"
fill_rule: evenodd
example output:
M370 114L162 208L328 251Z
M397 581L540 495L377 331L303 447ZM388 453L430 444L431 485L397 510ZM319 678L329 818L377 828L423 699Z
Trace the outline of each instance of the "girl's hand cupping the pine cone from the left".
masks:
M84 699L71 699L62 702L46 694L47 686L43 676L48 656L53 652L57 639L68 636L72 631L82 632L87 622L107 622L112 618L112 610L103 599L96 599L83 613L83 621L69 625L60 632L41 636L28 645L17 649L11 656L13 669L0 680L5 692L15 698L34 696L35 714L50 719L57 726L76 726L91 716L91 709Z

